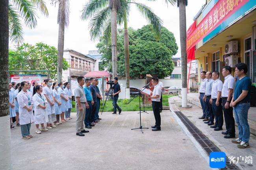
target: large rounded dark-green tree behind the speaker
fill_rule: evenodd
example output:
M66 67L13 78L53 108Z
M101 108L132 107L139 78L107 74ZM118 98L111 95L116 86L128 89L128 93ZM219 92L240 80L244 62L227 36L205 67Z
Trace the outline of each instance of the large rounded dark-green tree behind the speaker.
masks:
M174 64L171 59L177 53L178 46L173 33L165 27L161 28L162 36L156 40L155 33L150 26L144 26L141 29L128 29L129 35L129 53L130 53L130 77L136 78L139 75L158 75L163 78L171 75ZM125 75L124 62L124 30L119 29L117 33L118 46L118 72ZM104 37L100 38L97 48L102 53L102 63L100 69L105 68L111 72L111 46L106 46Z

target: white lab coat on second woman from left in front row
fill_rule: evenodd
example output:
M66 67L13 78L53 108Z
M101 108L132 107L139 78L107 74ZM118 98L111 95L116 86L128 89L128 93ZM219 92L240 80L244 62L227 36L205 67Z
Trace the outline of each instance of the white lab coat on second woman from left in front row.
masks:
M39 104L44 106L44 103L47 106L48 101L46 100L45 95L41 93L41 97L40 97L38 93L35 93L35 95L33 95L33 101L35 105L35 124L48 122L49 120L48 120L48 114L46 112L46 109L39 107Z

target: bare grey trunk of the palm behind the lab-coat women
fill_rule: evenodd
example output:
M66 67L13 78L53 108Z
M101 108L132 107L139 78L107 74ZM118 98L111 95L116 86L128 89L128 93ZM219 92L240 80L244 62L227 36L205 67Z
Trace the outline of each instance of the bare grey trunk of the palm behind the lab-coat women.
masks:
M65 23L64 23L64 20L60 19L59 20L59 35L58 35L58 67L57 67L58 82L62 81L64 33L65 33Z

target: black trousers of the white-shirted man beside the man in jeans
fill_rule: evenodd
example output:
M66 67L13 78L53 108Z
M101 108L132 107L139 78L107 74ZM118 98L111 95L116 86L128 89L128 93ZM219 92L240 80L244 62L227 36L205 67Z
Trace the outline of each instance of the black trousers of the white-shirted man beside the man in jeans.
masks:
M228 109L225 109L226 101L227 101L227 99L222 100L222 109L223 109L223 112L224 112L226 130L227 130L228 134L233 136L236 133L235 119L233 117L233 108L229 107Z

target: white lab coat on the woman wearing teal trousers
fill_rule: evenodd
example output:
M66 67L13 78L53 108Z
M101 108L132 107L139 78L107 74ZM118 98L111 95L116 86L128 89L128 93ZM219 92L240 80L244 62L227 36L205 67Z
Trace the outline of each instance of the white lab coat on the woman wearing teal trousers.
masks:
M29 99L28 99L29 98ZM29 124L30 122L34 121L33 111L28 112L24 107L28 106L28 102L30 101L33 104L33 98L31 93L24 92L21 90L17 95L17 101L19 103L19 119L20 125Z

